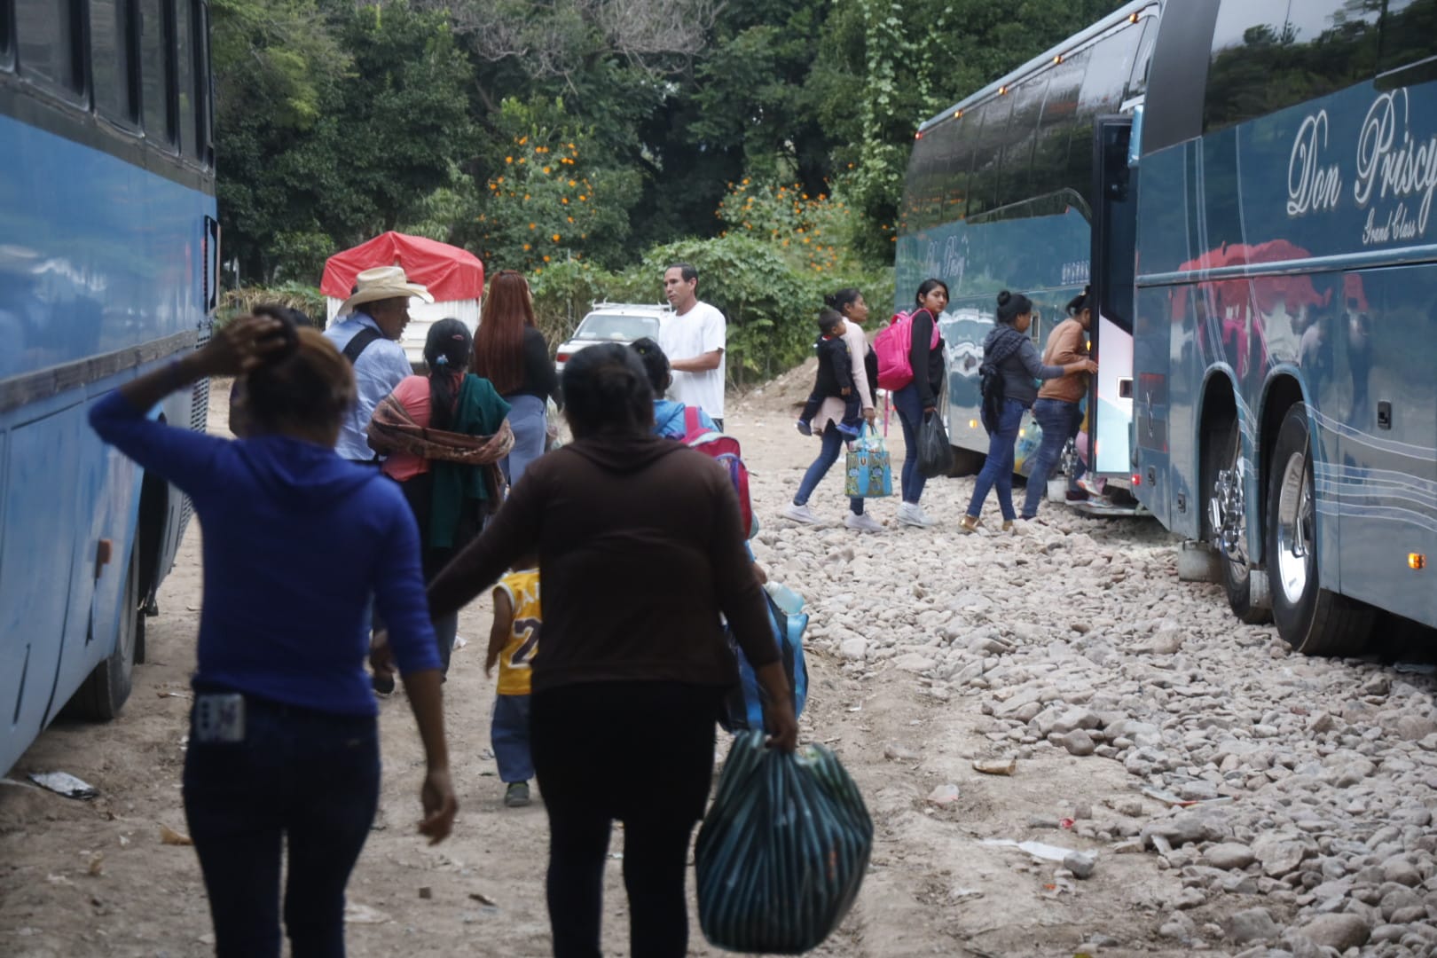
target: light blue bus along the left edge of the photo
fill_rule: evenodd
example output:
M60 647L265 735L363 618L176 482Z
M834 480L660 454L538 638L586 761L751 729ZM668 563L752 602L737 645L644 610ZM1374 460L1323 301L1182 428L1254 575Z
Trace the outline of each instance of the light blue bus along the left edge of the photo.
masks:
M124 705L190 517L86 412L208 336L207 37L204 0L0 0L0 771Z

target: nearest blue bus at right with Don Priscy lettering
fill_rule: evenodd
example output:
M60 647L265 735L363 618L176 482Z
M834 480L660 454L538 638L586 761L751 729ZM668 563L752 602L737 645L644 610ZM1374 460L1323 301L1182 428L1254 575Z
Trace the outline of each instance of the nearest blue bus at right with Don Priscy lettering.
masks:
M1303 652L1437 626L1437 0L1171 0L1138 126L1138 498Z

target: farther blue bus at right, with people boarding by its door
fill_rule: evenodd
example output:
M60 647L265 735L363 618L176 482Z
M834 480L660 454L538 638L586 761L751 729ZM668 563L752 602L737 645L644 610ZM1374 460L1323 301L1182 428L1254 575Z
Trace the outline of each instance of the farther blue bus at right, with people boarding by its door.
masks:
M976 471L987 451L977 373L997 293L1032 297L1030 335L1042 350L1066 317L1068 300L1094 279L1095 254L1104 247L1131 254L1128 200L1104 191L1098 165L1105 152L1127 157L1127 125L1147 93L1158 10L1157 0L1127 3L918 128L898 218L897 307L911 309L928 276L948 284L940 327L948 349L946 418L960 473ZM1094 477L1125 488L1131 297L1128 304L1115 297L1101 304L1092 330L1099 373L1086 404L1089 464ZM1026 417L1020 474L1027 474L1039 437Z

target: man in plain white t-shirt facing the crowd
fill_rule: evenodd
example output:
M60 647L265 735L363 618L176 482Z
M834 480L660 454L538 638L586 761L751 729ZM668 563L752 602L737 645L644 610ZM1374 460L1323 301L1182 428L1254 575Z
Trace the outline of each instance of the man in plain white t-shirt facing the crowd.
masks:
M664 270L664 296L674 307L658 326L658 345L668 356L674 385L671 399L698 406L723 429L724 342L723 313L698 302L698 270L675 263Z

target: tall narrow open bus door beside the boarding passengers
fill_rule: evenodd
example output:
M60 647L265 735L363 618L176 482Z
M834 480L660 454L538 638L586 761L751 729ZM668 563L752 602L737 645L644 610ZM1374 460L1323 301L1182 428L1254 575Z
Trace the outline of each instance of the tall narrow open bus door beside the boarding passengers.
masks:
M1094 124L1092 355L1098 375L1088 386L1089 467L1094 474L1132 475L1132 276L1137 191L1129 181L1131 116Z

